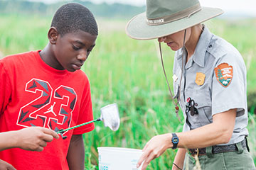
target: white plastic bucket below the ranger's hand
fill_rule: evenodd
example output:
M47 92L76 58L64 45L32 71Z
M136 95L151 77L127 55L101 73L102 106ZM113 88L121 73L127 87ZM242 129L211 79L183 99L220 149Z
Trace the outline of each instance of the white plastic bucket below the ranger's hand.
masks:
M98 147L99 170L140 170L137 162L142 156L141 149L124 147Z

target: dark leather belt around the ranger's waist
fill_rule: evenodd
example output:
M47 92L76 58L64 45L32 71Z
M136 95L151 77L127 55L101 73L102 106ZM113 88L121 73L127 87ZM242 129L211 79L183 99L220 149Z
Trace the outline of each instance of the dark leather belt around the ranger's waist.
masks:
M242 140L242 148L247 148L246 139ZM197 148L197 149L188 149L188 150L192 157L206 155L206 147ZM213 146L212 148L213 154L218 154L223 152L234 152L234 151L238 151L238 147L235 144L223 145L223 146L216 145L216 146Z

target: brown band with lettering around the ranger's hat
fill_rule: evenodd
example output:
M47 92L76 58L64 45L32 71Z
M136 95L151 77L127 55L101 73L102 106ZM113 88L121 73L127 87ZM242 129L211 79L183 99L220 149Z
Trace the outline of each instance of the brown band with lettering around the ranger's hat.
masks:
M154 18L154 19L146 19L146 23L149 26L159 26L164 23L171 23L173 21L179 20L181 18L190 17L193 13L196 13L201 10L201 5L198 3L195 6L191 6L186 8L183 11L179 11L177 13L171 14L169 16Z

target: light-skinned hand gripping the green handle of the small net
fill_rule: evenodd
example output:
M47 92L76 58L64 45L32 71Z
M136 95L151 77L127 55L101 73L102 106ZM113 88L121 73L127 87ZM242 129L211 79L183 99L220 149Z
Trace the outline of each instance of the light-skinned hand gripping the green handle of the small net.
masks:
M58 134L50 129L42 127L29 127L16 131L16 146L31 151L43 151L47 142L53 141L53 137L58 139Z

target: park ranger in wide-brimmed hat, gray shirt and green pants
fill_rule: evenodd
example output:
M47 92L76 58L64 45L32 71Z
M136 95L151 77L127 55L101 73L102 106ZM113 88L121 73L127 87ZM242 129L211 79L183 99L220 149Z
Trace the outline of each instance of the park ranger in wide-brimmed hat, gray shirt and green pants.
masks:
M184 116L183 132L156 135L146 143L137 164L144 162L142 170L177 147L172 169L255 169L246 140L245 63L233 45L202 24L222 13L198 0L147 0L146 12L127 23L129 37L157 38L160 54L161 42L176 51L171 96L178 101L177 115L179 103ZM162 54L161 61L164 69Z

